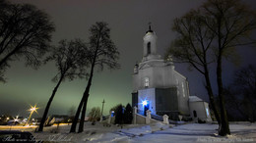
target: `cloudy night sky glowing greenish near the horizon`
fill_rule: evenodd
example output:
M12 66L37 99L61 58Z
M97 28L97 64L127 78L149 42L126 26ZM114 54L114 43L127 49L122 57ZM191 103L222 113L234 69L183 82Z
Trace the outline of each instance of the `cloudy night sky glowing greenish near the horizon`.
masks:
M96 22L106 22L111 28L111 38L120 51L121 69L96 72L90 92L88 112L100 107L105 100L104 114L119 103L131 103L132 72L136 62L143 56L143 36L152 23L158 39L161 55L169 46L175 34L171 31L174 18L181 17L192 8L197 8L204 0L12 0L13 3L30 3L46 12L56 26L52 34L52 44L60 39L81 38L88 41L89 28ZM254 0L244 0L254 9ZM248 64L256 66L256 50L242 47L240 67ZM175 64L176 71L188 77L190 95L197 95L208 101L203 86L204 79L196 71L188 71L187 65ZM224 63L224 83L232 79L233 71L239 69ZM40 67L37 71L26 68L23 61L11 63L5 73L7 83L0 83L0 114L28 116L30 104L43 109L56 85L51 78L56 74L53 63ZM213 76L214 78L214 76ZM49 115L68 114L69 109L77 108L87 85L86 79L66 80L58 89L50 107ZM215 88L216 89L216 88ZM35 116L35 115L34 115Z

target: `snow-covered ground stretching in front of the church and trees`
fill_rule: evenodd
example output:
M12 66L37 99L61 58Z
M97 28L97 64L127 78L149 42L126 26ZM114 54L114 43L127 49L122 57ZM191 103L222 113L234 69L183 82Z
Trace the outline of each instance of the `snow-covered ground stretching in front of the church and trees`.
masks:
M34 133L37 140L52 142L256 142L256 123L230 123L231 135L217 135L218 124L188 123L183 125L153 123L103 126L85 123L83 133L68 133L70 125L46 127L43 133ZM56 133L55 133L56 132Z

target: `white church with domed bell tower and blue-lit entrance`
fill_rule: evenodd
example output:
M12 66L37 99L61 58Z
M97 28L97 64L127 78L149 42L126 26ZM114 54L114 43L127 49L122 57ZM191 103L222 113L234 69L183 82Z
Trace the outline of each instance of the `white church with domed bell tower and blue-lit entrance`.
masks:
M157 40L150 25L143 37L142 62L134 67L132 106L142 115L150 110L169 119L212 120L208 103L190 96L187 78L175 71L171 58L163 60L158 54Z

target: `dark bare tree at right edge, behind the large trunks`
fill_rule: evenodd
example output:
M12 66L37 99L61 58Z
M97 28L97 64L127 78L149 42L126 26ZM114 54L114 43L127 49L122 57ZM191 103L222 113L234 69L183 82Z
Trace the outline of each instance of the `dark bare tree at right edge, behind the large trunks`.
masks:
M227 105L232 106L246 120L256 120L256 68L248 66L234 74L233 82L225 88L225 91L232 96L231 102Z

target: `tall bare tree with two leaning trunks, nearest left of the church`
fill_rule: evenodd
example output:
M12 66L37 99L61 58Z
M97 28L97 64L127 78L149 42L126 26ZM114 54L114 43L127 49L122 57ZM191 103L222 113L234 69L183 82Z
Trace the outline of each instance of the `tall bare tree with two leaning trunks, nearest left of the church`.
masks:
M117 64L117 60L119 59L119 52L115 47L114 43L110 39L110 28L107 27L107 24L104 22L99 22L93 24L90 28L90 42L89 42L89 61L91 66L91 71L89 75L89 80L87 83L86 90L83 94L83 98L78 106L78 110L75 116L75 119L72 122L72 126L70 132L76 131L76 125L82 110L82 116L79 125L79 131L83 132L84 130L84 120L87 110L87 102L89 98L90 88L93 81L93 76L96 67L99 70L103 70L104 67L107 67L110 70L118 69L119 64Z

